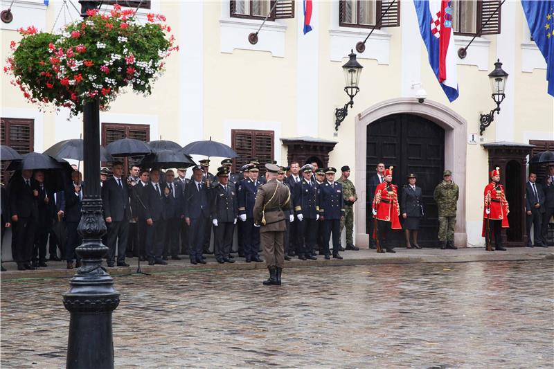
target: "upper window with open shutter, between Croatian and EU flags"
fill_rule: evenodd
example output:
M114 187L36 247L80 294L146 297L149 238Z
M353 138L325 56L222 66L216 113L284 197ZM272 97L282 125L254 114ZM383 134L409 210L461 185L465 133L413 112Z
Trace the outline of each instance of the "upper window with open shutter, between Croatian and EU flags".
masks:
M500 0L451 0L454 33L469 36L499 34L501 8L496 13L494 11L497 10L500 2ZM489 18L490 21L485 26ZM478 34L481 28L483 29Z

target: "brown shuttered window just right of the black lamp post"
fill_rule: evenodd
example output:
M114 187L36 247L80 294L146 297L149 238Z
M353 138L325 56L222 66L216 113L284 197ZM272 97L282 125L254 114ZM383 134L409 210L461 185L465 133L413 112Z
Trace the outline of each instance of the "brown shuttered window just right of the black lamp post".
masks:
M121 138L134 138L135 140L150 141L149 125L132 125L122 123L102 123L102 146L120 140ZM127 172L129 165L137 165L141 162L143 156L116 157L115 159L123 161L123 172ZM111 169L111 163L102 163Z

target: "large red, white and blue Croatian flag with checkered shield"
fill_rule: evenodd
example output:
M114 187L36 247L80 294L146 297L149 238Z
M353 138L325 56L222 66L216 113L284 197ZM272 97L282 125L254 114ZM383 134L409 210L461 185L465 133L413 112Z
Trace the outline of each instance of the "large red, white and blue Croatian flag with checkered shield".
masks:
M456 48L452 30L452 6L447 0L413 0L429 64L450 102L458 98Z

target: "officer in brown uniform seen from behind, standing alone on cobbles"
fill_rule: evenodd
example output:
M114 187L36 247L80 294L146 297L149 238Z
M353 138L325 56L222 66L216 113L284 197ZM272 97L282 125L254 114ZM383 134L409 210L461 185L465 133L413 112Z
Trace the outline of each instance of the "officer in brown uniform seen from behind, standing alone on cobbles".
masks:
M281 285L281 273L285 267L283 209L289 208L291 194L287 186L276 180L280 168L274 164L266 164L265 168L267 183L258 188L256 204L253 208L254 226L261 227L262 248L267 260L267 269L269 269L269 278L263 284Z

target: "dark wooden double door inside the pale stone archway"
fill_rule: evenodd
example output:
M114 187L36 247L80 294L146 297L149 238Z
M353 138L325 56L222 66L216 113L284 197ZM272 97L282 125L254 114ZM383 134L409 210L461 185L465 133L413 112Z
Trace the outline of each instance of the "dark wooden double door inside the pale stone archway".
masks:
M367 127L366 142L366 191L370 187L370 177L375 173L377 163L384 163L386 168L393 165L393 183L399 186L399 192L402 192L402 186L408 183L406 177L414 173L418 177L417 185L422 188L425 211L419 243L422 246L437 246L438 215L433 192L442 181L445 169L444 129L420 116L394 114L370 123ZM370 201L373 201L373 194L368 192L367 201L367 208L371 209ZM367 233L373 231L368 219L366 230ZM402 232L395 232L392 237L391 242L394 246L404 246Z

